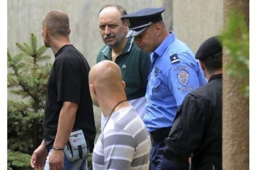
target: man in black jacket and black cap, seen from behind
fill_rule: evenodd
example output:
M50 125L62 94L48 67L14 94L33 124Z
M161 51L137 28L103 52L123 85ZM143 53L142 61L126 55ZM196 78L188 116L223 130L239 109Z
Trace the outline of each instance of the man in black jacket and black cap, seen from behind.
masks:
M222 46L211 37L196 53L208 84L185 97L166 138L164 158L186 162L192 170L222 169ZM163 169L168 169L162 165Z

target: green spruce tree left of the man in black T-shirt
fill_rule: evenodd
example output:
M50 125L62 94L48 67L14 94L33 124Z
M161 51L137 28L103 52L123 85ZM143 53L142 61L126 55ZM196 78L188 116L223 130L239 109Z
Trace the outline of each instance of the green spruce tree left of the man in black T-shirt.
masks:
M30 156L42 142L44 102L51 64L47 48L37 47L37 38L30 36L29 43L16 43L20 53L12 56L7 49L7 65L10 72L7 85L10 92L21 96L20 102L7 102L8 166L28 169ZM19 152L18 152L19 151Z

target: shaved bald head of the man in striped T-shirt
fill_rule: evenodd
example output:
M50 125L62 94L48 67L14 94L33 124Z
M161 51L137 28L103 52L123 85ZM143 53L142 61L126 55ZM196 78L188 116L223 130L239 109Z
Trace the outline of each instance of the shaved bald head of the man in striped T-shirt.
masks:
M90 92L93 103L99 106L98 99L125 97L125 83L119 66L109 60L101 61L89 73Z

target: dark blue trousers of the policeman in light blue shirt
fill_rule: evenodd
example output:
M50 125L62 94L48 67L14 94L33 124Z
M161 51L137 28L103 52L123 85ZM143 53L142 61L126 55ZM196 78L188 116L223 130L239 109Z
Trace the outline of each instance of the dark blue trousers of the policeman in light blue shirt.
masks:
M161 141L151 141L149 170L188 170L189 163L177 163L163 157L165 143Z

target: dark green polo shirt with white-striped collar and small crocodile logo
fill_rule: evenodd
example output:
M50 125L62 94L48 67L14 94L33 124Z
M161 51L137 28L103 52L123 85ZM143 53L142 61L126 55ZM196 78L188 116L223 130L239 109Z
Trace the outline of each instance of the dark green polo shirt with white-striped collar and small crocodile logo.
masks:
M97 63L102 60L112 61L111 50L112 48L104 45L97 56ZM119 65L126 84L127 100L144 97L151 64L149 54L138 48L134 43L134 38L128 38L123 52L116 57L115 63Z

